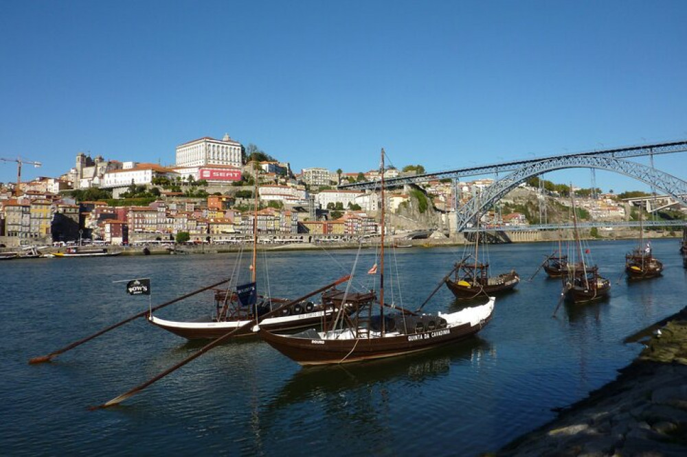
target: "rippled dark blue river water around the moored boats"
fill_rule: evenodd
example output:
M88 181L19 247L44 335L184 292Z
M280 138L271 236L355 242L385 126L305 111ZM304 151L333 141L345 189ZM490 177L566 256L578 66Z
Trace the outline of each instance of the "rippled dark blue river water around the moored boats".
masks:
M128 296L124 279L150 277L153 305L227 277L236 255L12 260L0 263L0 449L3 455L477 455L494 451L554 417L616 376L639 353L625 336L686 305L686 270L675 239L653 241L664 276L628 283L624 254L635 242L592 242L611 296L563 305L561 284L543 272L553 246L510 244L488 250L493 268L523 281L497 298L477 338L418 355L301 368L260 341L209 351L144 392L108 410L89 411L172 366L199 344L138 319L58 356L45 355L149 305ZM401 293L387 301L414 309L462 253L460 248L399 249ZM346 274L365 271L374 251L269 253L260 284L295 298ZM387 274L387 278L391 277ZM359 277L367 285L372 276ZM427 305L455 309L444 287ZM199 294L161 309L165 318L210 312Z

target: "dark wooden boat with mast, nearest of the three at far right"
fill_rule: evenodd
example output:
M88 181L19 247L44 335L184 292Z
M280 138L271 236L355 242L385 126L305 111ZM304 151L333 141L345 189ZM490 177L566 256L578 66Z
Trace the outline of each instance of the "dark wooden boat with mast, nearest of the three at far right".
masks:
M572 185L570 186L572 189ZM583 253L580 231L577 226L577 212L575 199L572 198L572 223L574 228L574 243L577 261L568 263L567 274L563 277L563 290L565 298L572 303L584 303L605 298L611 290L611 282L602 277L596 265L589 265Z

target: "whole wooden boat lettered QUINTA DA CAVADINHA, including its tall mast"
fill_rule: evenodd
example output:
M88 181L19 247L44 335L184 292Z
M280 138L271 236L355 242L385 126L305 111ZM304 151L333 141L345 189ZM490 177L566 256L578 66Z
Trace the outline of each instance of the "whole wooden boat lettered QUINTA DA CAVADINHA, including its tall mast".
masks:
M381 255L368 273L379 274L379 313L371 303L354 304L350 316L339 312L322 331L308 329L291 335L260 329L260 336L286 357L302 365L343 364L427 351L473 336L491 319L494 297L483 305L458 312L418 314L396 309L385 314L384 301L384 150L381 152Z

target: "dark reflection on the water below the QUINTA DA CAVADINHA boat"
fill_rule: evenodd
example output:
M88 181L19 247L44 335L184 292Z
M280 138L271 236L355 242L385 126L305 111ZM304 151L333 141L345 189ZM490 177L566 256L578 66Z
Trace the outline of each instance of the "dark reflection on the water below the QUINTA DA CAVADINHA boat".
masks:
M456 362L470 362L488 351L491 351L491 344L474 337L458 344L394 358L354 364L303 367L280 389L267 409L279 410L313 397L360 390L375 385L385 386L397 382L421 384L428 379L448 375L451 366Z

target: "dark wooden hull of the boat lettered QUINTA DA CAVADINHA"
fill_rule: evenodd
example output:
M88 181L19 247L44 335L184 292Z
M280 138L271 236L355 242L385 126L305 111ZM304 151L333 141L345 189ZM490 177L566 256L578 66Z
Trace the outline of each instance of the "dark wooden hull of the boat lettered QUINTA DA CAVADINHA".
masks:
M418 333L394 333L370 338L322 339L307 336L278 335L260 330L260 336L286 357L301 365L324 365L363 362L428 351L446 344L470 338L480 331L493 314L494 299L490 298L484 314L476 322L448 325L443 329L422 329Z

